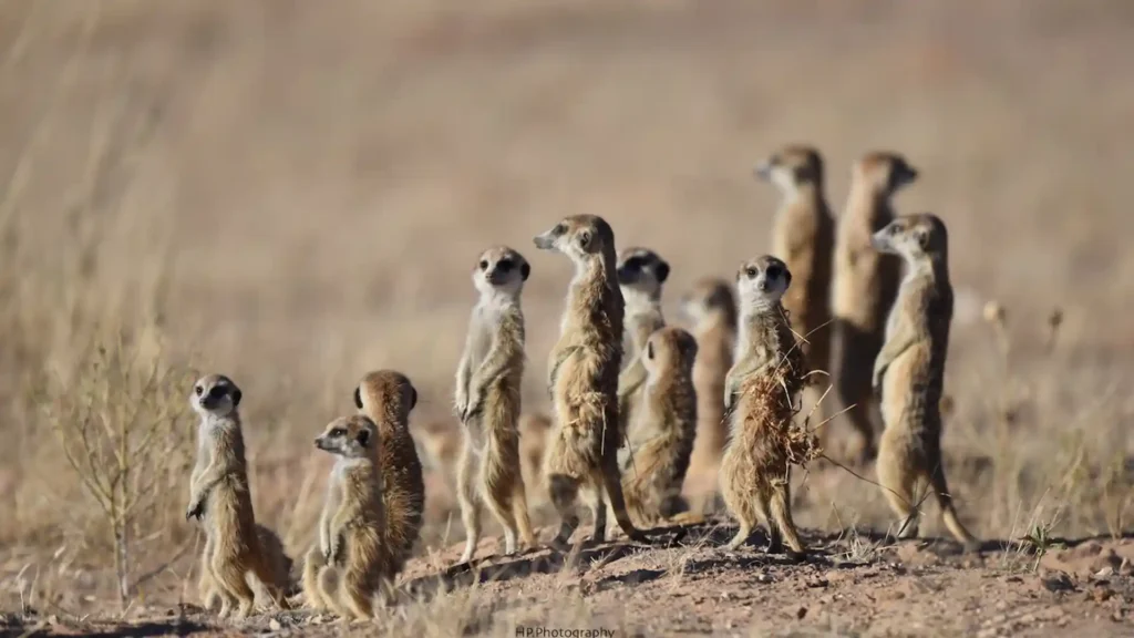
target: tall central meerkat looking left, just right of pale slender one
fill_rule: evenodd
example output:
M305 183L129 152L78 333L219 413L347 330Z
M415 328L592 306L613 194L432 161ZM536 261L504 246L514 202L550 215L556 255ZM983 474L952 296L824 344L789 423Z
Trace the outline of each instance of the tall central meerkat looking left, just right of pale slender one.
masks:
M618 373L625 308L616 272L615 233L601 217L576 215L533 241L535 247L565 254L575 265L559 341L548 358L555 430L544 473L560 518L552 545L565 548L578 527L575 505L582 487L594 497L592 540L606 538L606 492L618 527L631 539L645 542L626 512L618 470Z

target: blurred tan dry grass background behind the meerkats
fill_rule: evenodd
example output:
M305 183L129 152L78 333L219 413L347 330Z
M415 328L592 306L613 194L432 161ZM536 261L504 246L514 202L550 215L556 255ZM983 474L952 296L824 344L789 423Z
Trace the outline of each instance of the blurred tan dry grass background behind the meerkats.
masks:
M569 272L530 237L602 215L672 265L668 304L764 250L777 195L751 166L797 140L837 209L849 162L894 148L923 176L898 207L949 224L945 448L970 529L1131 530L1128 2L332 6L0 2L0 610L185 596L193 373L244 388L256 514L299 555L311 438L362 372L404 370L416 419L448 412L479 251L533 262L543 406ZM988 300L1005 321L981 324ZM423 552L459 539L430 515ZM796 521L891 523L844 473L810 477ZM430 605L468 624L426 635L488 627L494 603L448 596ZM441 622L422 608L390 628Z

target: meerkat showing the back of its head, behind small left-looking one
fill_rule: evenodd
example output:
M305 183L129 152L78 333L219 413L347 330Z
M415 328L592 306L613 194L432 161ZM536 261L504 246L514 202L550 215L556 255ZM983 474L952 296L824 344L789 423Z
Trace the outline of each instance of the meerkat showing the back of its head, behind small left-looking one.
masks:
M409 434L417 389L401 372L367 372L355 388L355 408L378 426L379 471L386 505L386 535L400 572L413 554L425 510L425 480Z

